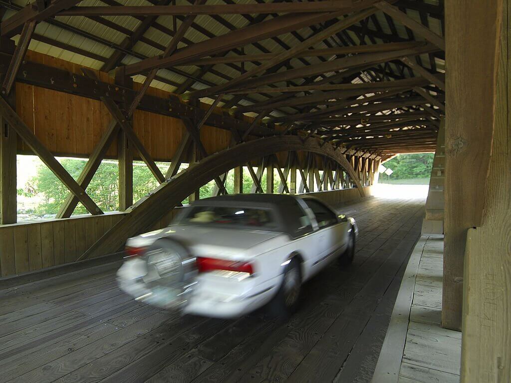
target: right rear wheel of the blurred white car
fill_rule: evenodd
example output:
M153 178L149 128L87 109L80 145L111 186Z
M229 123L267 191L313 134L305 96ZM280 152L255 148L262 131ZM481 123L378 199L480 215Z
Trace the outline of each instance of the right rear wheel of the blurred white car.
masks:
M284 278L275 297L269 303L273 317L288 318L298 309L301 271L298 259L292 258L284 269Z

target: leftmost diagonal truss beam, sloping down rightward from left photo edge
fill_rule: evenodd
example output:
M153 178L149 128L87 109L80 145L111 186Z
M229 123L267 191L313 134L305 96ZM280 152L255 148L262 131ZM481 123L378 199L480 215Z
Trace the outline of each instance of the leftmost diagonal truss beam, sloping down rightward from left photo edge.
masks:
M63 168L52 153L39 141L30 128L19 118L4 98L0 97L0 115L16 130L18 136L39 156L41 161L57 176L64 186L73 192L83 206L93 215L103 214L101 209L89 197L85 190Z

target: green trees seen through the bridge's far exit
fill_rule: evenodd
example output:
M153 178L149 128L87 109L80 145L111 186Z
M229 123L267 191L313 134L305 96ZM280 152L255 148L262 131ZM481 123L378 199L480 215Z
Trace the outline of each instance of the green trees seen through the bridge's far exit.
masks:
M383 166L394 171L390 176L393 179L429 178L433 166L433 156L433 153L398 154ZM380 176L382 181L387 177L385 174Z

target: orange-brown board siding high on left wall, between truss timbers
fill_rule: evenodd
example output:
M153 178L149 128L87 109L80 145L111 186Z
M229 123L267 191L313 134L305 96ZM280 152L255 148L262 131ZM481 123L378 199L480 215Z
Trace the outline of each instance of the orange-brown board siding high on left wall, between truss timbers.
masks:
M80 65L54 57L29 51L27 59L66 71L81 74ZM108 74L94 71L105 82L113 82ZM134 88L141 84L134 83ZM148 94L169 98L170 93L150 88ZM207 104L201 105L207 108ZM42 87L16 83L16 111L31 128L36 137L52 153L88 157L110 121L110 114L103 103L81 96L52 91ZM217 112L221 112L217 108ZM133 115L133 129L142 144L156 161L170 161L184 131L181 120L136 110ZM224 129L204 126L201 139L208 153L225 149L230 143L230 132ZM30 148L18 141L19 153L31 153ZM135 152L135 159L138 153ZM117 158L117 140L107 152L107 157Z

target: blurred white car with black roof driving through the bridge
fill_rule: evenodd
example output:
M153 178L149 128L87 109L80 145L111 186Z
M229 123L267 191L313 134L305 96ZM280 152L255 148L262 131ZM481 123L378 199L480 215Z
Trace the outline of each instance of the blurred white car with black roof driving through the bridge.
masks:
M137 300L183 313L234 318L269 304L287 314L302 283L333 259L353 261L357 235L353 218L312 197L206 198L128 239L118 281Z

